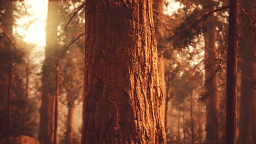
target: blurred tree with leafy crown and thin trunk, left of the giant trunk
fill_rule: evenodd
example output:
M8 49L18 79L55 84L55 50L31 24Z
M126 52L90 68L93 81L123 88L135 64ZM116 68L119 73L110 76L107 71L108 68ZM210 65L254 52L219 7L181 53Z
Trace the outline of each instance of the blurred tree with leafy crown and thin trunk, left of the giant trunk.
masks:
M61 89L65 89L63 93L67 95L68 107L66 144L72 144L74 139L74 110L77 103L79 103L83 88L83 83L79 83L83 79L84 70L81 68L84 63L83 59L82 52L78 50L78 47L72 47L72 50L66 54L65 66L61 70L63 73Z

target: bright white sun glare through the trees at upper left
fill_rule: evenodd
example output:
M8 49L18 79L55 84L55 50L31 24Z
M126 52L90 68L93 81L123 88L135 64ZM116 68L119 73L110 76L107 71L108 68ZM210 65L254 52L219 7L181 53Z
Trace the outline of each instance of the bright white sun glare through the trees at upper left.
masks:
M18 19L20 26L14 29L24 37L24 41L38 45L36 49L43 49L45 46L47 4L48 0L26 0L25 5L30 15Z

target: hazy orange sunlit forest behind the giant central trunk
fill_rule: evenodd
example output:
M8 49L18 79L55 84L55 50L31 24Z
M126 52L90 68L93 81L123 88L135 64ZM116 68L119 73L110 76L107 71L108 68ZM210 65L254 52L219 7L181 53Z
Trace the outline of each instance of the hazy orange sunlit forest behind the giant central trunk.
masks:
M152 4L166 142L254 143L254 1ZM86 8L80 0L0 1L3 143L21 135L49 144L82 141Z

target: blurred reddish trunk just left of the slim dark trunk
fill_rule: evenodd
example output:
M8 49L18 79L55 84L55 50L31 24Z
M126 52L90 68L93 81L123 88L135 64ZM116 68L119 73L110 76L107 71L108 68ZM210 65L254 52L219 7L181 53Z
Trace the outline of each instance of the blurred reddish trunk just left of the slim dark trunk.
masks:
M205 91L206 91L206 144L219 143L219 95L216 76L216 27L213 18L208 20L205 38Z

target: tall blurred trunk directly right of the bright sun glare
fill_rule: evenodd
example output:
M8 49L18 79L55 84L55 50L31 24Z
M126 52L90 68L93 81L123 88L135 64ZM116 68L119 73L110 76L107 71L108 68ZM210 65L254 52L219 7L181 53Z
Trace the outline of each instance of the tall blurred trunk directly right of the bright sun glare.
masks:
M42 105L38 139L43 144L54 141L55 51L57 43L57 1L49 0L46 21L46 46L42 75Z

